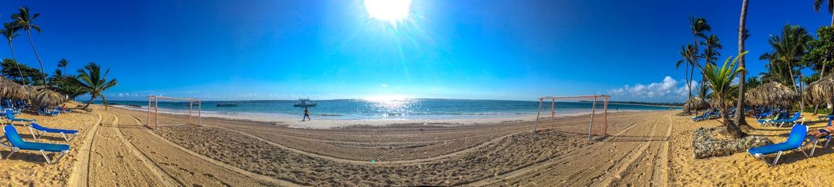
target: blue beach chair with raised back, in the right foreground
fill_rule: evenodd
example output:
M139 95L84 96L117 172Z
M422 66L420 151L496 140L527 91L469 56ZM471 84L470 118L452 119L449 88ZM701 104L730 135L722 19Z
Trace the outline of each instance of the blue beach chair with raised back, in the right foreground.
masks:
M787 140L782 143L772 144L772 145L764 145L761 147L755 147L747 150L747 153L753 155L762 161L765 161L765 164L774 166L776 163L779 163L779 158L781 157L782 153L788 150L800 150L802 151L802 155L809 157L814 154L814 150L811 150L811 155L805 153L805 150L802 150L802 144L805 143L805 136L808 133L808 126L806 125L793 125L791 128L791 135L788 135ZM767 162L765 159L766 155L776 154L776 159L773 160L773 163Z

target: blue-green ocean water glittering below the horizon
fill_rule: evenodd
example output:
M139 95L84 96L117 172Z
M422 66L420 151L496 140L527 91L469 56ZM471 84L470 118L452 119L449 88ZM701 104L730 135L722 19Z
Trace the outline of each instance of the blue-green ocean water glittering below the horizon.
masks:
M134 105L147 110L148 101L109 101L119 106ZM203 114L300 117L304 108L294 107L298 101L203 101ZM457 99L404 99L393 101L323 100L314 101L311 116L329 120L421 120L466 119L481 117L507 117L535 115L538 101L457 100ZM100 104L100 101L97 102ZM237 104L219 107L218 104ZM159 101L163 111L188 112L188 102ZM675 109L664 106L635 106L609 104L609 111L666 111ZM590 102L555 102L557 115L590 112ZM195 106L196 110L196 106ZM601 102L597 110L602 111ZM550 103L542 106L542 115L550 115Z

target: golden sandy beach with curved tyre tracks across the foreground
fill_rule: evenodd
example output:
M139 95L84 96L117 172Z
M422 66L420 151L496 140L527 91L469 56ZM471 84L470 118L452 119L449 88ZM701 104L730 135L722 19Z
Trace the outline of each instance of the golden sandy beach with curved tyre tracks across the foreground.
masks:
M525 121L301 129L215 117L203 118L202 126L149 130L142 126L141 111L95 109L57 117L24 113L83 133L57 165L29 152L4 160L0 185L823 185L831 180L815 176L834 173L821 166L831 159L831 148L817 149L811 158L791 152L776 167L745 153L696 160L692 130L720 123L692 122L675 116L676 111L612 113L610 135L589 141L586 135L563 132L586 129L587 116L542 123L544 130L536 134ZM811 128L821 125L811 121ZM775 142L788 132L754 128L751 134ZM18 129L31 140L28 130Z

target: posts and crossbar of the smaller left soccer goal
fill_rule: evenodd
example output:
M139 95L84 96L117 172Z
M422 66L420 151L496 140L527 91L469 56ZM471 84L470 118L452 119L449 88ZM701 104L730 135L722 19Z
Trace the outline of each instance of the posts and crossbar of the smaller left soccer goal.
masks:
M184 125L201 125L202 123L202 111L203 111L203 101L196 98L178 98L178 97L170 97L170 96L148 96L148 121L145 122L145 126L154 129L157 126L164 126L159 124L159 100L172 100L172 101L188 101L188 124ZM196 121L194 121L194 105L197 105L197 116ZM151 120L153 116L153 120Z

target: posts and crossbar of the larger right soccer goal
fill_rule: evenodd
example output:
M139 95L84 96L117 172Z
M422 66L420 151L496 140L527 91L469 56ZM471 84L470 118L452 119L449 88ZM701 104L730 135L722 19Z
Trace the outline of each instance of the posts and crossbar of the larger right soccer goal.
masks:
M608 101L611 96L605 95L591 95L591 96L542 96L539 97L539 109L535 114L535 122L533 125L533 133L539 129L539 121L541 117L542 106L546 101L550 101L550 123L555 121L556 116L556 101L577 101L577 100L593 100L590 106L590 120L588 121L588 140L592 140L593 135L608 135ZM602 121L599 127L601 130L595 131L594 117L597 110L597 102L602 102ZM600 121L597 121L600 123ZM551 126L552 128L552 126ZM596 133L601 131L601 133Z

